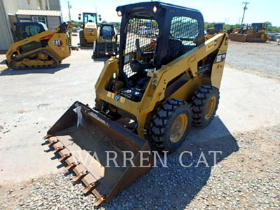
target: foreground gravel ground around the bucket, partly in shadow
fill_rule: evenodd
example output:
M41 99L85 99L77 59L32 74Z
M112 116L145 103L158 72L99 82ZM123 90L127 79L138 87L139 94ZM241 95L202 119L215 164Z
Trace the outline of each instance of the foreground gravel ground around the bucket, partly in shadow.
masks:
M280 126L189 143L193 158L179 153L99 209L280 209ZM210 167L197 165L204 152ZM214 166L208 151L222 151ZM94 209L93 195L73 174L57 174L16 186L0 186L0 209Z

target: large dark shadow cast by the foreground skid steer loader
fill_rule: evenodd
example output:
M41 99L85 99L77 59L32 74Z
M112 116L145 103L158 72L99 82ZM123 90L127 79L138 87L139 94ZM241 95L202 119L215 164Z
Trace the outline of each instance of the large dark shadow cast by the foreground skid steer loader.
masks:
M111 203L103 205L105 209L186 209L197 193L207 184L214 166L214 154L217 153L217 163L239 150L237 141L230 134L220 118L215 117L211 125L200 130L192 128L179 151L167 156L167 166L162 167L158 161L154 168L123 191ZM182 155L183 165L179 162ZM197 166L201 153L207 159L209 167L204 163ZM202 160L202 159L201 159Z

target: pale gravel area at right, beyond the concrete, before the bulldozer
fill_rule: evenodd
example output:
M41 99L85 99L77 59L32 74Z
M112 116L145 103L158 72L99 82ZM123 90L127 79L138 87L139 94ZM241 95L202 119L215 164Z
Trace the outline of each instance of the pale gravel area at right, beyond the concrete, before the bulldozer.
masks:
M230 41L226 63L237 69L280 80L280 45Z

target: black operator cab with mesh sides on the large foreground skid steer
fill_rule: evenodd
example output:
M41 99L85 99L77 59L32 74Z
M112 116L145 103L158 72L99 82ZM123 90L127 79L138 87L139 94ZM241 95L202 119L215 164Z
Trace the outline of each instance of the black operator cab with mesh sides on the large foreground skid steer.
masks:
M199 10L157 1L119 6L116 10L122 17L120 94L134 101L144 94L150 71L204 43L204 20ZM139 98L131 97L136 94Z

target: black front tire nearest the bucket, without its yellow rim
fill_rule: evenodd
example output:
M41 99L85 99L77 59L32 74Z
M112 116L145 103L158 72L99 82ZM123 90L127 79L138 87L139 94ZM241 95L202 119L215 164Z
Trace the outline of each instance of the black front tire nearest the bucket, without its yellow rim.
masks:
M181 139L179 139L176 143L173 143L170 141L172 124L182 113L186 113L186 116L188 117L188 125ZM185 141L186 134L190 129L191 121L192 111L190 104L179 99L167 100L167 102L158 108L151 120L149 129L151 144L153 144L158 151L176 151L183 141Z

